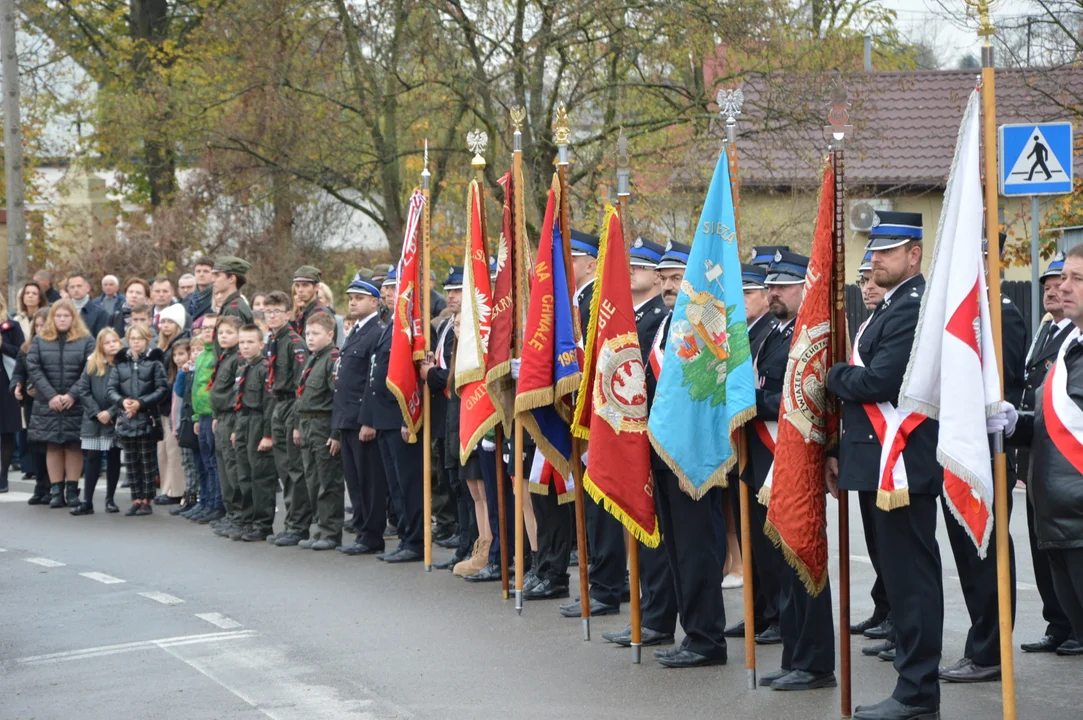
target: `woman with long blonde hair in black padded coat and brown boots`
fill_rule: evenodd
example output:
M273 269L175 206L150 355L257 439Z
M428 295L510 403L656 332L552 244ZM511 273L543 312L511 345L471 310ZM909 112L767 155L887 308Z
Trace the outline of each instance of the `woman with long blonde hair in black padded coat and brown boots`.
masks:
M26 372L38 393L28 437L31 443L45 443L45 463L52 482L50 508L64 507L65 483L67 505L79 500L82 408L71 389L93 350L94 339L82 324L79 311L70 300L61 300L50 306L45 327L26 354Z

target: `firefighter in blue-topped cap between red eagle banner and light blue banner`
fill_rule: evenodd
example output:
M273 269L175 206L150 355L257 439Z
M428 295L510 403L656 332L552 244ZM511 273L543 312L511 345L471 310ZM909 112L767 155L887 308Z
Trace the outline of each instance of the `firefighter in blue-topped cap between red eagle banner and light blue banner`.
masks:
M643 367L650 367L651 348L669 307L662 297L662 280L657 265L665 254L665 248L647 238L639 237L628 252L631 269L631 300L635 303L636 333L639 349L643 354ZM676 301L676 297L674 297ZM647 371L647 403L654 401L657 380ZM665 540L663 539L663 542ZM677 589L666 551L657 548L639 548L639 594L641 608L642 645L661 645L674 640L677 628ZM603 632L602 638L625 647L631 645L631 626L619 632Z

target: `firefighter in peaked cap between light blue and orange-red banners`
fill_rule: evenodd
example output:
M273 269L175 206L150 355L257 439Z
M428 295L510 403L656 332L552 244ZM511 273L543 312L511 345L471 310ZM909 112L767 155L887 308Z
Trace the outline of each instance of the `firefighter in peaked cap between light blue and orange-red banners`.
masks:
M794 324L797 312L805 298L805 276L809 259L794 252L779 250L775 260L768 269L766 285L768 288L769 307L779 324L765 339L760 353L756 358L756 420L778 423L779 410L782 405L782 392L790 361L791 339L794 335ZM760 475L766 475L767 468L774 462L774 451L764 446L762 429L757 428L749 433L748 454L749 466L761 483ZM756 449L753 449L753 448ZM767 464L767 468L765 468ZM758 500L753 501L755 511L753 518L753 553L765 554L762 542L768 542L762 536L764 522L767 519L767 508ZM773 567L761 572L762 576L775 574L775 586L779 588L779 630L782 637L782 667L759 679L759 684L772 690L815 690L834 688L835 680L835 630L831 611L831 586L824 587L815 598L809 595L805 584L790 563L782 558L778 548L775 555L769 560ZM764 570L764 568L761 568Z

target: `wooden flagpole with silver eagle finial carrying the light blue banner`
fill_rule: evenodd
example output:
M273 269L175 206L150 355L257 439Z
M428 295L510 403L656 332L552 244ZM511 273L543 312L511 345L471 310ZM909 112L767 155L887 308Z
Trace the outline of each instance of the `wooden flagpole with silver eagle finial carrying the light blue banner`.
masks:
M744 104L744 92L740 88L735 90L718 91L719 113L726 118L726 161L730 166L730 185L733 195L733 219L740 226L740 179L738 176L738 116L741 115L741 106ZM739 233L740 237L740 233ZM748 690L759 688L756 682L756 600L753 587L752 568L752 524L749 506L753 500L749 497L748 485L741 482L744 475L745 466L748 462L748 435L744 427L736 432L738 440L738 487L741 503L741 572L744 575L743 601L744 601L744 626L745 626L745 672L748 676Z

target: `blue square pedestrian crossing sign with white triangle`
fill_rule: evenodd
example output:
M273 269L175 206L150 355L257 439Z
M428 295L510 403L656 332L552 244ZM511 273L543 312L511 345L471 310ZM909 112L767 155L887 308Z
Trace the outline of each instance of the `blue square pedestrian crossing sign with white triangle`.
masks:
M1072 192L1072 123L1002 125L1001 195Z

